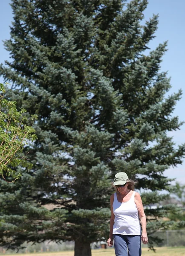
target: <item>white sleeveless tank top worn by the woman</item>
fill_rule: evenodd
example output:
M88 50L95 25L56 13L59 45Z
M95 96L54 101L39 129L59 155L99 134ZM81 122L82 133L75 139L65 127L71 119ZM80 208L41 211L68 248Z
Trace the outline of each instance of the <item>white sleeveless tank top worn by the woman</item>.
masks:
M120 203L116 193L114 193L113 213L115 218L113 234L141 235L138 209L134 202L135 193L133 192L130 200L124 203Z

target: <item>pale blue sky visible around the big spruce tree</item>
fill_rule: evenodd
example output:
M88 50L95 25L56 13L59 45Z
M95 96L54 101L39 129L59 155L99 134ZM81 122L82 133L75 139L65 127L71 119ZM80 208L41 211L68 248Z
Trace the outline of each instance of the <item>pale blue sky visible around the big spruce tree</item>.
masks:
M9 6L10 0L0 1L0 63L9 59L9 53L3 47L3 40L9 39L9 26L13 20L12 9ZM171 77L172 88L169 94L177 92L180 88L183 91L182 99L177 103L173 113L179 116L179 120L185 121L185 0L149 0L147 9L144 12L145 19L149 20L153 14L159 14L159 25L156 38L150 42L149 47L155 49L160 43L168 40L168 52L165 53L161 64L162 71L168 71ZM3 79L0 78L0 82ZM173 136L176 145L185 143L185 124L179 131L169 132ZM185 161L176 168L165 171L169 178L176 178L177 181L185 183Z

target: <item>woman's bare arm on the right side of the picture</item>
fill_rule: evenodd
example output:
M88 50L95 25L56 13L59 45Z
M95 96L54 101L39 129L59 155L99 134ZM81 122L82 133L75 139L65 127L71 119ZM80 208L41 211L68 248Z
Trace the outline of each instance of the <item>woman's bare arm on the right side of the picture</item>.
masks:
M146 221L146 215L143 209L143 203L141 196L139 195L138 192L135 193L134 196L134 201L136 203L138 212L139 212L139 218L142 224L142 242L143 244L147 244L148 242L148 237L147 237L147 221Z

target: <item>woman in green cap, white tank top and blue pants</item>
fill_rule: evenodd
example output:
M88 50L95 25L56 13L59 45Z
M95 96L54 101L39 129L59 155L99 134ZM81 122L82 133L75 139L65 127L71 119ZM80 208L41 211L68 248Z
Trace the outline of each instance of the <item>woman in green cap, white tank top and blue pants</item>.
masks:
M110 235L108 246L113 245L116 256L141 256L141 240L147 244L146 216L142 199L134 192L135 183L125 172L115 175L116 193L110 196ZM141 226L142 225L142 232Z

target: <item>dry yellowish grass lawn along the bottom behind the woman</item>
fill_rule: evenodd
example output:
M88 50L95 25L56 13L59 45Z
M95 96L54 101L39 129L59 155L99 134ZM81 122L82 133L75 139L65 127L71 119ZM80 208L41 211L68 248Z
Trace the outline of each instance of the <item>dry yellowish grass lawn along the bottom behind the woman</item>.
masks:
M2 255L2 254L1 254ZM48 252L48 253L16 253L3 254L6 256L74 256L73 251ZM114 249L97 249L92 250L92 256L115 256ZM156 253L148 251L147 248L142 248L142 256L185 256L185 247L158 247Z

